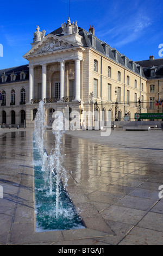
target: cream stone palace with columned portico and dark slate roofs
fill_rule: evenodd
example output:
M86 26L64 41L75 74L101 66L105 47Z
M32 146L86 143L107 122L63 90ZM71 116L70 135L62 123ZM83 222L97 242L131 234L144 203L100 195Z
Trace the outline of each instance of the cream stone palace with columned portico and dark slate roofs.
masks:
M153 107L158 84L161 96L163 59L150 59L148 66L145 60L134 62L98 39L93 26L86 31L70 18L45 34L37 26L32 48L23 56L28 65L0 70L0 123L15 127L25 121L33 127L40 100L47 126L54 111L69 118L72 109L80 112L81 122L83 111L96 112L93 120L86 117L88 126L108 117L134 120L135 113Z

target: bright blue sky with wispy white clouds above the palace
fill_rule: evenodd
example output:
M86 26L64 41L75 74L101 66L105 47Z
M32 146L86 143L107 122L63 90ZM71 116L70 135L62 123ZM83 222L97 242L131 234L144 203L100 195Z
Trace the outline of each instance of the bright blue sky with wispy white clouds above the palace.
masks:
M69 0L1 1L0 69L28 64L22 56L31 48L36 26L46 34L67 22ZM160 0L70 0L70 19L105 40L128 58L159 57L163 44L163 2ZM0 52L1 54L1 52Z

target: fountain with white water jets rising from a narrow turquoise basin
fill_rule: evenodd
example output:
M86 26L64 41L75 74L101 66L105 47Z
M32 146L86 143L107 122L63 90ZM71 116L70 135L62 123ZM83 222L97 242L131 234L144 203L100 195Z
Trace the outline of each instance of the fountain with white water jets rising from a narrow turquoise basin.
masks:
M35 118L33 143L36 231L84 228L65 190L68 175L62 166L62 126L62 117L58 115L57 129L53 130L55 148L52 148L51 154L48 155L44 147L44 102L40 101Z

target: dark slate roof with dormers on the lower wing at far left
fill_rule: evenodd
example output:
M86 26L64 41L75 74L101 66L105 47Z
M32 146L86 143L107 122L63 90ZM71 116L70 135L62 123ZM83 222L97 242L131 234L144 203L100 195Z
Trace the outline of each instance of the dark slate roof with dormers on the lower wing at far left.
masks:
M20 74L21 72L24 71L24 73L26 73L26 78L21 80ZM11 74L16 75L16 79L15 81L11 81ZM2 76L5 75L7 76L7 81L6 82L2 82ZM5 84L5 83L14 83L14 82L19 82L19 81L27 81L29 80L29 68L28 68L28 64L27 65L22 65L22 66L15 66L14 68L8 68L8 69L1 69L0 70L0 84Z

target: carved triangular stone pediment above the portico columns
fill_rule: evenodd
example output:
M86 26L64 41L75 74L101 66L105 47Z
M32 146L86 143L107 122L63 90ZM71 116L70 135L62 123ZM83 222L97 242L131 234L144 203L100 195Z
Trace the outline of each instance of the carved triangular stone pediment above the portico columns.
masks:
M48 34L44 39L38 42L32 49L30 49L23 58L36 56L42 53L51 53L58 50L65 50L67 48L79 47L78 44L62 39L62 37Z

